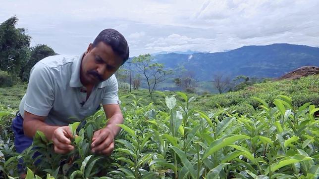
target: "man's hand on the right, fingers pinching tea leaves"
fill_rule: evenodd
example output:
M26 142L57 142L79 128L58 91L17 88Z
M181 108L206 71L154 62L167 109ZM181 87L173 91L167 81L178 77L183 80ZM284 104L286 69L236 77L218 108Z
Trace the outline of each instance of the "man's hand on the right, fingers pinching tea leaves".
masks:
M92 152L109 156L114 149L114 136L113 131L108 128L96 131L92 138Z

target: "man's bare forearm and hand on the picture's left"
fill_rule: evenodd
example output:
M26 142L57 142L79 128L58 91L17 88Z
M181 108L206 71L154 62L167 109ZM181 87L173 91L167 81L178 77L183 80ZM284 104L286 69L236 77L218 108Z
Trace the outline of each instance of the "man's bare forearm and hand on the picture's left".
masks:
M33 137L37 131L43 132L49 140L53 141L56 153L68 153L74 149L69 138L73 137L68 126L50 126L46 124L46 117L37 116L24 111L24 134Z

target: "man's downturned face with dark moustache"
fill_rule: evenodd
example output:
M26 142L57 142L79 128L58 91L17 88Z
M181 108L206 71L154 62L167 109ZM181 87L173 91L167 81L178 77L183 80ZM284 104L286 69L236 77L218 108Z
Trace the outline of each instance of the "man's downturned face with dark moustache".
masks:
M110 45L100 42L89 45L85 52L80 71L80 80L84 86L97 85L107 80L121 66L123 60L114 53Z

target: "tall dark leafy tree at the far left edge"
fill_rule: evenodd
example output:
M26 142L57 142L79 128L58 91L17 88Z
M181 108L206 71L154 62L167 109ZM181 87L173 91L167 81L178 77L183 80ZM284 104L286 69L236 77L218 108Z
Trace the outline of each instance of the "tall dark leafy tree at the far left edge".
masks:
M30 39L23 28L15 28L17 17L0 24L0 70L17 77L21 66L30 57Z

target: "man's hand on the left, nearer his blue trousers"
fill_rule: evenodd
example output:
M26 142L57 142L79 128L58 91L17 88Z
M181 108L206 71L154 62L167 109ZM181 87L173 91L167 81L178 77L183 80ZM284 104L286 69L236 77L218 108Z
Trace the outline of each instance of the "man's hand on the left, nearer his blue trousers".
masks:
M73 138L73 135L68 126L62 126L54 130L52 134L54 152L60 153L60 154L66 154L74 150L74 146L71 145L70 138Z

